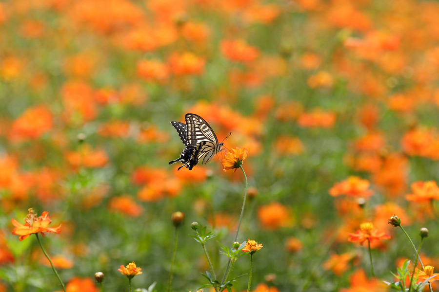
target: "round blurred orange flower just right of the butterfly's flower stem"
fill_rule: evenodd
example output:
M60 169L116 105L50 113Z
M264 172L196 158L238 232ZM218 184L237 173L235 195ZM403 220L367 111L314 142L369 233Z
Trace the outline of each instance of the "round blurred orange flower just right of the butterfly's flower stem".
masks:
M268 230L277 230L280 227L291 227L293 225L290 211L279 202L260 206L258 218L262 227Z

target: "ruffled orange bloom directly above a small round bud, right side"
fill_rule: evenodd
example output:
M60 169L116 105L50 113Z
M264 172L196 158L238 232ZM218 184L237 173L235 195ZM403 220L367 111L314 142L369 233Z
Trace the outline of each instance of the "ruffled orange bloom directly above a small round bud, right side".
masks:
M374 191L369 189L370 183L368 180L362 180L356 176L350 176L347 180L335 183L329 190L329 194L333 197L346 195L348 197L370 197Z

